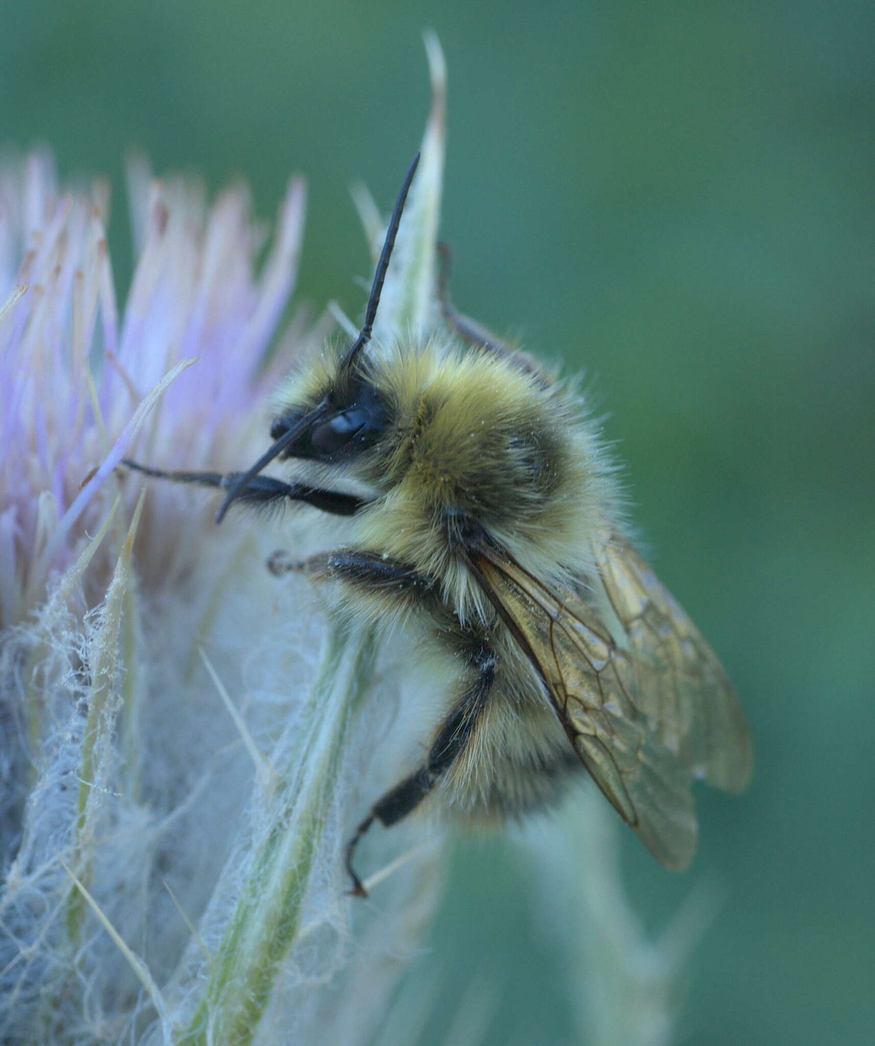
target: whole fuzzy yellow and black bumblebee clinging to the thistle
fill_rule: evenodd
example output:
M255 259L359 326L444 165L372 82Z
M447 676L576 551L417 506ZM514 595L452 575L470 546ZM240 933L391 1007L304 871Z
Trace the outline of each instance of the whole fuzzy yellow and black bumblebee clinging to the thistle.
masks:
M418 161L419 158L417 158ZM398 198L364 325L285 390L268 451L246 473L153 476L235 502L304 502L349 519L344 547L289 562L342 586L381 621L419 620L448 652L442 720L422 765L378 799L396 824L428 797L464 822L555 802L588 774L650 852L685 868L695 778L739 792L751 771L744 714L711 647L633 548L615 470L568 386L444 300L448 333L372 344L417 161ZM442 299L443 300L443 299ZM367 496L263 475L311 461Z

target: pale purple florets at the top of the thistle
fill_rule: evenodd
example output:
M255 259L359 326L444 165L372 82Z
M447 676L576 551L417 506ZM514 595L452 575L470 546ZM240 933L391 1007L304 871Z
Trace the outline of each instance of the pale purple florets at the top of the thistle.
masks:
M49 575L96 530L118 493L107 480L132 447L158 448L167 464L221 467L242 438L253 440L265 353L294 285L305 195L294 179L256 269L264 232L244 187L208 204L197 183L153 180L134 161L139 254L119 316L106 185L60 191L44 152L0 168L0 628L44 598ZM133 498L129 490L129 509ZM150 515L180 504L178 494L156 499ZM156 541L141 552L155 567L179 559L166 539L182 528L162 529L163 541L150 528Z

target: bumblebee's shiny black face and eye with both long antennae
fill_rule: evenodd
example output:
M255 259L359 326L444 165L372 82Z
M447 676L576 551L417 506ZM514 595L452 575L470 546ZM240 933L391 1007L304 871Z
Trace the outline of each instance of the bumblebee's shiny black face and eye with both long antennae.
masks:
M374 274L364 325L340 361L335 381L316 406L309 410L287 411L274 420L270 430L273 445L228 491L216 517L217 523L222 522L231 503L241 497L248 484L274 458L295 457L333 463L373 447L385 431L386 412L360 365L359 357L371 340L401 213L419 162L420 154L417 153L389 219L383 250Z

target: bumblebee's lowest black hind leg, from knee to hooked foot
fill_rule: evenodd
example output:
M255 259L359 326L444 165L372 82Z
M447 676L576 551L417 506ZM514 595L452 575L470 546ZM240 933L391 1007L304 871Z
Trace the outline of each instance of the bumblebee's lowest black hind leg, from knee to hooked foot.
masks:
M385 827L391 827L411 814L465 751L471 740L495 680L496 658L488 646L479 642L473 644L470 658L472 667L477 670L477 678L444 720L428 752L428 758L374 804L346 845L346 871L353 881L352 892L355 896L367 896L362 881L353 868L353 855L361 837L375 819Z

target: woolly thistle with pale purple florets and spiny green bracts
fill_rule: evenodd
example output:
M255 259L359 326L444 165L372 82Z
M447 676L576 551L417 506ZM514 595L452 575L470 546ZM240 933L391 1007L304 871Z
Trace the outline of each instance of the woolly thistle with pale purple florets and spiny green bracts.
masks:
M436 45L430 59L386 329L433 322ZM59 191L46 153L0 169L0 1039L364 1043L439 881L421 854L353 932L340 850L356 783L379 794L402 744L391 650L378 661L372 634L264 569L281 540L314 540L306 517L282 539L216 528L202 492L115 471L257 453L266 389L326 333L293 319L277 337L304 184L261 267L243 187L209 203L139 161L129 189L119 310L106 185ZM376 866L420 831L377 840Z

